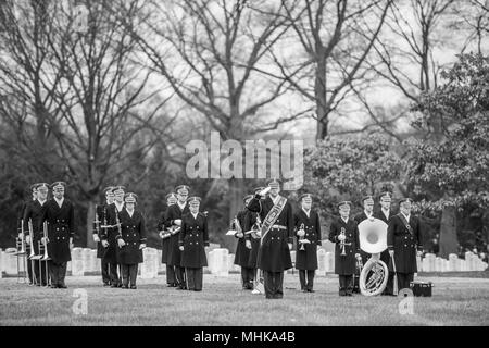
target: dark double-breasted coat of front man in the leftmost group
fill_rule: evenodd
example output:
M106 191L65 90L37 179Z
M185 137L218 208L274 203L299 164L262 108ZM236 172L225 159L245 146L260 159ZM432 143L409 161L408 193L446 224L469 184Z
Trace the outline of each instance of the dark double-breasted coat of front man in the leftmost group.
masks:
M48 200L41 221L48 222L48 254L54 263L72 260L70 238L75 235L75 209L73 203L64 198L58 206L53 199Z

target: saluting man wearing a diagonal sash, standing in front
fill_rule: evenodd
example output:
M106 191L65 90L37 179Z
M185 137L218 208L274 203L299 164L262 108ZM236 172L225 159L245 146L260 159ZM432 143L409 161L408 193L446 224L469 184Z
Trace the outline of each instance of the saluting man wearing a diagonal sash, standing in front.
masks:
M292 268L293 214L290 203L279 195L280 181L272 179L267 185L250 201L248 209L259 213L263 224L258 265L263 271L265 296L278 299L284 297L284 271ZM266 191L269 196L262 201Z

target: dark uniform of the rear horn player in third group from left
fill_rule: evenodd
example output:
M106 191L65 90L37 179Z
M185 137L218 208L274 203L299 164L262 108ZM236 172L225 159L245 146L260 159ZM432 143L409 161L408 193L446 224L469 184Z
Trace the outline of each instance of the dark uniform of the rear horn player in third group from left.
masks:
M178 203L170 206L166 210L166 216L165 216L165 227L170 228L172 225L174 225L175 220L181 220L181 216L190 213L190 210L188 208L188 203L185 203L184 209L178 206ZM174 269L175 273L175 281L178 284L179 289L185 289L185 269L181 268L181 251L178 249L178 235L181 233L178 232L177 234L171 236L168 238L168 254L166 258L166 265Z

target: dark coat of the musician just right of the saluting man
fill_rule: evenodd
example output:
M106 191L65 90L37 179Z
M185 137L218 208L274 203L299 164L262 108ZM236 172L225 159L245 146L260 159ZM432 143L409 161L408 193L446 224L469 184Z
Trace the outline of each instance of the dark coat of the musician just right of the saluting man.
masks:
M316 211L312 210L309 213L309 217L302 208L293 214L293 224L296 226L296 233L304 224L305 239L309 239L311 244L304 245L305 250L300 250L299 236L297 236L297 253L296 253L296 269L297 270L317 270L317 246L321 246L321 225L319 215Z

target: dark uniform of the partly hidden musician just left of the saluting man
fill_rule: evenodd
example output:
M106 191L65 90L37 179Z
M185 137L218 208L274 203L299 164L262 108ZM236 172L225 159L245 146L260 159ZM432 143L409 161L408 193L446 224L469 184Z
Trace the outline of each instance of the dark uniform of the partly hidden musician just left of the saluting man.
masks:
M253 224L251 224L252 220L252 213L248 210L242 210L238 212L236 215L236 219L239 222L239 225L241 226L243 237L238 238L238 245L236 246L236 253L235 253L235 264L239 265L241 268L241 282L242 282L242 288L247 290L253 289L253 281L254 281L254 273L255 273L255 264L256 261L250 262L250 256L252 252L252 249L248 249L246 246L246 241L250 240L251 244L252 237L250 234L244 235L244 233L251 228ZM246 220L249 220L248 222ZM259 239L256 239L259 240ZM255 243L256 244L256 243ZM258 241L260 244L260 241Z

